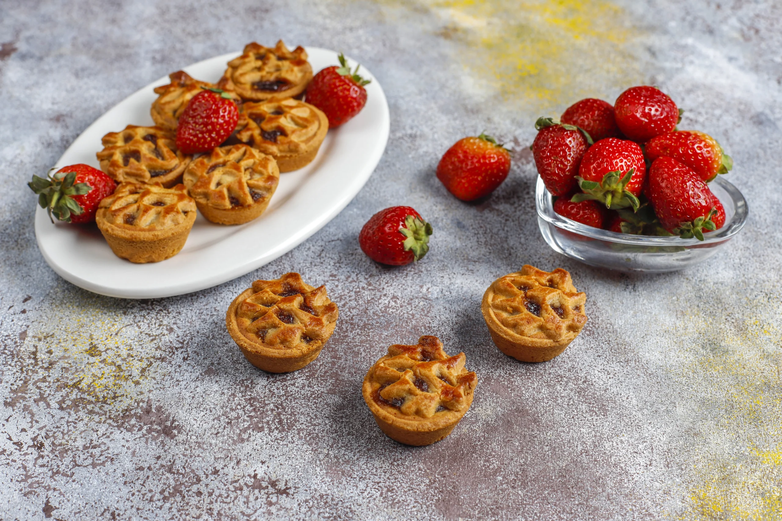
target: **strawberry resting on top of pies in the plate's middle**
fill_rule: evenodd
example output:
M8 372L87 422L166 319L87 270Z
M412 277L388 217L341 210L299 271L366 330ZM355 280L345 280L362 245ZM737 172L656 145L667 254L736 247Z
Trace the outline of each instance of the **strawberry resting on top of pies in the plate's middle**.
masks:
M177 148L185 154L209 152L228 139L239 121L239 107L228 92L205 88L192 97L177 127Z

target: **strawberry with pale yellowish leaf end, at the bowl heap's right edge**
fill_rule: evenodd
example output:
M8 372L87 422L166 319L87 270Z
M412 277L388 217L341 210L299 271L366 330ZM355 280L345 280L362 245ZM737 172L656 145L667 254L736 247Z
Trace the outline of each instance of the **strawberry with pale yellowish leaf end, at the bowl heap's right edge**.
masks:
M704 181L727 174L733 160L715 138L699 131L673 131L651 138L644 147L647 160L667 156L691 167Z

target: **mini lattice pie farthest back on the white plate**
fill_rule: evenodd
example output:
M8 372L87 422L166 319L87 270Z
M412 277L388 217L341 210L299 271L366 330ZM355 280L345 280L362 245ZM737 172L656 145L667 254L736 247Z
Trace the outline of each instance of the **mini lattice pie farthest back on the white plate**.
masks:
M228 62L217 86L236 92L242 99L263 101L300 95L311 79L312 66L303 47L291 52L282 40L273 49L253 41L245 45L242 56Z

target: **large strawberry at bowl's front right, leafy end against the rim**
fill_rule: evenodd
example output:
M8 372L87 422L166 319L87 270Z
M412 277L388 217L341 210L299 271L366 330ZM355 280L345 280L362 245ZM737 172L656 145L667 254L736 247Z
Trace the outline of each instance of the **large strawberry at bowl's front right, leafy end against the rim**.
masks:
M725 209L706 181L670 157L658 157L649 168L649 195L663 228L683 239L703 240L704 231L725 224Z

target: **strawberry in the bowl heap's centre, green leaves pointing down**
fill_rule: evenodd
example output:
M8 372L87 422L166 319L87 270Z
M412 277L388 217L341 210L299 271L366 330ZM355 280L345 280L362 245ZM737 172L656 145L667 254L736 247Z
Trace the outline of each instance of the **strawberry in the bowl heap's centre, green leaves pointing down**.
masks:
M617 138L601 139L584 154L579 166L579 186L583 194L573 200L594 199L612 210L640 205L646 163L637 143Z

